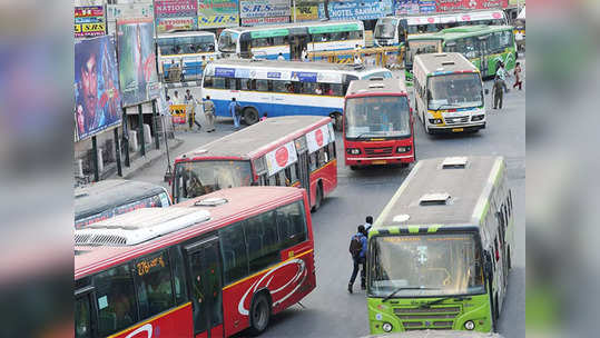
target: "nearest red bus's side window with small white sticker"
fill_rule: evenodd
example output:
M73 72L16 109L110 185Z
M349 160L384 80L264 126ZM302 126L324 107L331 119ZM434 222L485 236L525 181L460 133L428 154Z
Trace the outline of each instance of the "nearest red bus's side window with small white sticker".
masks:
M130 265L125 264L92 278L98 306L99 336L110 336L139 320L130 271Z

